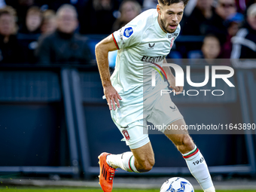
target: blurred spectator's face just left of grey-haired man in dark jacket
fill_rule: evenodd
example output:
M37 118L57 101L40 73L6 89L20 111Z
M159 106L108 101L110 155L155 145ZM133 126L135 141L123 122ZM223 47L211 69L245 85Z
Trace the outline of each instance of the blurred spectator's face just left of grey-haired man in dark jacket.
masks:
M56 16L52 10L44 11L43 21L41 24L42 34L50 34L56 30Z

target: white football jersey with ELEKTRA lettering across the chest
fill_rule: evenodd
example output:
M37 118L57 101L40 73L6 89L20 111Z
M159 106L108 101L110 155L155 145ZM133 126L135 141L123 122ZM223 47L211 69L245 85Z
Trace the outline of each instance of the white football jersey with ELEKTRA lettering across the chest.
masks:
M167 87L158 72L156 86L152 87L151 72L160 71L155 64L162 66L181 26L173 33L163 32L157 17L157 9L145 11L112 34L118 51L111 84L122 97L121 102L138 102L143 96Z

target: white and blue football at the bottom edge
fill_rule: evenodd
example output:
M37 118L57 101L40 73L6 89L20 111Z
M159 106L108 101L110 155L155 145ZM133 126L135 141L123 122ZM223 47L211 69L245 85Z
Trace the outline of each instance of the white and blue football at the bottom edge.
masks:
M169 178L165 181L160 192L194 192L194 188L189 181L184 178Z

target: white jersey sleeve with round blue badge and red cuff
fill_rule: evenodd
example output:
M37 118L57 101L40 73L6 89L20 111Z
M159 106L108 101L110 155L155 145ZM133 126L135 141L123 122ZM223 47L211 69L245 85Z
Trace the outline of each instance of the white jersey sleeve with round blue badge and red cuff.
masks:
M123 26L121 29L112 33L114 43L117 49L124 49L126 47L132 47L139 44L141 41L139 26L129 25Z

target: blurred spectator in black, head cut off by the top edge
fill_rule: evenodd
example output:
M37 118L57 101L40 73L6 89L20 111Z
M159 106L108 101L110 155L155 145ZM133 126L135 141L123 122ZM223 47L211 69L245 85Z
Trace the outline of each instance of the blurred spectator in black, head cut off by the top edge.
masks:
M119 8L118 0L89 0L81 11L80 32L83 34L109 34L116 20L114 11Z

